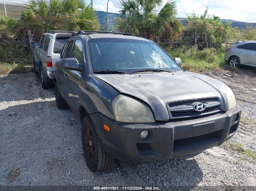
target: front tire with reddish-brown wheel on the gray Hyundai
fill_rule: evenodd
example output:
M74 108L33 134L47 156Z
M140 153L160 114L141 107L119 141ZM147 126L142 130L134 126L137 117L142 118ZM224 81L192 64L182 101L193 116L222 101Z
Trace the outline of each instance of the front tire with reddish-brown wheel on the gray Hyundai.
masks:
M81 136L84 157L89 169L92 172L102 172L110 169L115 163L115 159L109 157L102 150L98 135L89 116L85 116L83 119Z

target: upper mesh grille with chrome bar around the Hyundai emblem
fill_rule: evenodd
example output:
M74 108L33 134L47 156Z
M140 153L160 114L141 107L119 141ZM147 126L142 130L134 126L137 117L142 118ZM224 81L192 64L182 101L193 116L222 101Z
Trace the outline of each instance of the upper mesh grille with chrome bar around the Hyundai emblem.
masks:
M208 105L208 107L203 111L196 111L193 109L194 102L203 103ZM218 103L219 105L214 106ZM212 107L211 104L213 105ZM201 115L207 115L210 113L216 113L221 111L221 102L218 97L210 97L210 98L202 98L202 99L195 99L195 100L185 100L185 101L176 101L168 103L168 109L170 111L171 119L174 118L183 118L183 117L195 117ZM189 108L187 111L184 111L184 108Z

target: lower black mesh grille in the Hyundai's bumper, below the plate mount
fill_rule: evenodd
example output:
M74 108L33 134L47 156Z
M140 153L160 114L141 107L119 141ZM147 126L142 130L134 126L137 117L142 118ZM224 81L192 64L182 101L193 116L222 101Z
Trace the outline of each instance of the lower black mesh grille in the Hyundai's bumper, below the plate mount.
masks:
M180 146L185 146L185 145L190 145L193 143L206 141L210 138L216 137L217 132L218 131L214 131L214 132L211 132L208 134L199 135L199 136L195 136L195 137L176 139L176 140L174 140L173 147L180 147Z

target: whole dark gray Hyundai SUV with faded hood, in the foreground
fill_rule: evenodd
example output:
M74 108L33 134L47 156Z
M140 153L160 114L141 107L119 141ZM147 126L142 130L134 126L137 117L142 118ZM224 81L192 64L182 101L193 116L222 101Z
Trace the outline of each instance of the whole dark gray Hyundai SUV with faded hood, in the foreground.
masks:
M241 109L231 89L180 65L158 44L127 33L79 31L68 39L54 72L56 105L80 119L92 171L114 159L197 153L234 135Z

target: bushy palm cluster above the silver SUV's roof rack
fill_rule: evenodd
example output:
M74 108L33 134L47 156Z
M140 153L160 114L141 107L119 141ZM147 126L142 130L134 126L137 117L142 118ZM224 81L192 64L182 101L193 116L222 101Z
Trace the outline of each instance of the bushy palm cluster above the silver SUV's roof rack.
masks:
M95 9L85 0L29 0L26 8L44 19L47 30L97 30L100 26Z

